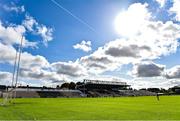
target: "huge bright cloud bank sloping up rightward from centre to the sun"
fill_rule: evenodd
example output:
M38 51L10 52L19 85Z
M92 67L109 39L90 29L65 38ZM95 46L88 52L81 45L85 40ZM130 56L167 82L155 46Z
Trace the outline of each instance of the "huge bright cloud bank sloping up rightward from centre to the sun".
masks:
M135 13L134 9L136 10ZM113 71L124 64L134 64L144 60L152 61L177 51L180 25L172 21L165 23L153 21L146 4L133 4L125 13L123 17L128 18L128 21L132 24L137 23L133 23L134 19L129 19L126 16L136 16L136 14L142 16L139 17L139 19L142 19L139 26L130 27L130 29L137 27L133 28L135 34L112 40L103 47L99 47L91 55L80 58L79 63L88 71L92 73ZM123 32L124 28L121 29Z

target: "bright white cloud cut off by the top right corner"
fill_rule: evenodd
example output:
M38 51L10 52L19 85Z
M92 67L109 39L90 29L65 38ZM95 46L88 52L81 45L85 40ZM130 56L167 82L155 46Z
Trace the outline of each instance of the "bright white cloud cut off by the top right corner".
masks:
M173 0L173 6L169 9L170 13L175 13L175 20L180 21L180 0Z

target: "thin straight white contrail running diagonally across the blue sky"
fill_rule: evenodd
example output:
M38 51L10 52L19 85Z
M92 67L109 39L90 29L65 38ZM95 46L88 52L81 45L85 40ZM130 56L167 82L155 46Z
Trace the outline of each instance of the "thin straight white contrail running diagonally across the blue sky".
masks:
M76 20L78 20L80 23L84 24L85 26L87 26L89 29L91 29L93 32L96 33L95 29L93 27L91 27L88 23L86 23L85 21L83 21L82 19L80 19L79 17L77 17L76 15L74 15L72 12L70 12L68 9L64 8L62 5L60 5L59 3L57 3L55 0L51 0L51 2L53 2L55 5L57 5L59 8L61 8L62 10L64 10L65 12L67 12L69 15L71 15L73 18L75 18Z

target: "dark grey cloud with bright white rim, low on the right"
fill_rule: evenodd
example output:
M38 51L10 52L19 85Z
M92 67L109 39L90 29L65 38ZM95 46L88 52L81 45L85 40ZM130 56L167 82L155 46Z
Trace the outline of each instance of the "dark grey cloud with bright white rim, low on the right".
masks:
M136 77L157 77L163 75L164 69L164 65L153 62L141 62L134 65L132 74Z

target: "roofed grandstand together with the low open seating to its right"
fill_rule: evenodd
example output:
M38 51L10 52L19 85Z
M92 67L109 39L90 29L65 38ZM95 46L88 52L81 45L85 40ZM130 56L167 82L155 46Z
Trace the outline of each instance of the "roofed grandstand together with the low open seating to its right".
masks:
M84 79L77 85L88 97L118 97L118 96L150 96L156 95L147 90L132 90L130 85L120 81L103 81Z

